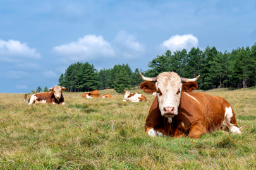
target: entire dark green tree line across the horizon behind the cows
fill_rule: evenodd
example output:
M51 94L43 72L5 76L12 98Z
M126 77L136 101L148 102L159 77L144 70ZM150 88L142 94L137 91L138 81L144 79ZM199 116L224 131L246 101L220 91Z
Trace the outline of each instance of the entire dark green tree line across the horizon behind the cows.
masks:
M256 43L252 47L238 47L231 52L217 51L216 47L192 48L157 55L148 64L149 69L132 71L128 64L116 64L111 69L97 71L88 62L77 62L68 66L59 77L59 85L66 91L92 91L114 88L118 93L123 89L138 88L144 76L155 77L161 72L173 71L181 77L198 79L199 89L248 88L256 86Z

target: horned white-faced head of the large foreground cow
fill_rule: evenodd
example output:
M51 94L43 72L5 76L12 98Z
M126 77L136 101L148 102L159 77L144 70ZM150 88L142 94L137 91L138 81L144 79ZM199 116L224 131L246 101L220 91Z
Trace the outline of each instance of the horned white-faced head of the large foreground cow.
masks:
M162 72L157 77L147 78L140 74L145 82L140 84L141 89L146 89L145 93L157 93L157 101L162 116L166 116L171 123L171 118L178 115L178 107L180 106L182 83L197 81L195 79L186 79L178 76L175 72ZM152 82L155 82L153 84Z

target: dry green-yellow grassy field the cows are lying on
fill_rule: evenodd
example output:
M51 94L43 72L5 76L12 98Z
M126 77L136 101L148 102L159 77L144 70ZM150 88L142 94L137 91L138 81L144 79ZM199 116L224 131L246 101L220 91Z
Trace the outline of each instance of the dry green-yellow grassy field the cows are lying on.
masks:
M130 103L100 93L113 99L64 93L64 106L28 106L23 94L0 94L0 169L256 169L255 88L205 92L227 99L247 127L197 140L145 135L155 96Z

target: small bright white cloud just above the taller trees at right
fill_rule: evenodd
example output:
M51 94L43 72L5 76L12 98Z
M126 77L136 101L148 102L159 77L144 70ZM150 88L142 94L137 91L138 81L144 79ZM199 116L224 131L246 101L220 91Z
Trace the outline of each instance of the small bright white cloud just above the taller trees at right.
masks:
M190 51L192 47L198 47L198 39L192 34L174 35L168 40L162 42L160 47L164 48L165 50L171 50L171 52L183 50L184 48Z

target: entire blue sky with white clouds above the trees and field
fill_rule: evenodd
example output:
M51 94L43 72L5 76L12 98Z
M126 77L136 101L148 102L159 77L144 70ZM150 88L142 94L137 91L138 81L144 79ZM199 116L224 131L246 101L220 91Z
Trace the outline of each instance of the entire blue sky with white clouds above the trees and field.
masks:
M0 0L0 93L58 84L76 62L146 71L166 50L256 42L256 1Z

